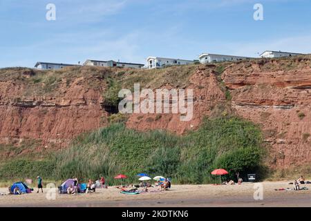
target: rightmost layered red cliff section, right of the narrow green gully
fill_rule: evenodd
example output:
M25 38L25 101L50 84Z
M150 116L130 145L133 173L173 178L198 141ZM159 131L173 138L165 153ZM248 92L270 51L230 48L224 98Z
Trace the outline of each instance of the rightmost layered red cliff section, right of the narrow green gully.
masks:
M277 168L311 162L311 66L309 59L283 59L230 66L223 73L232 108L261 124Z

